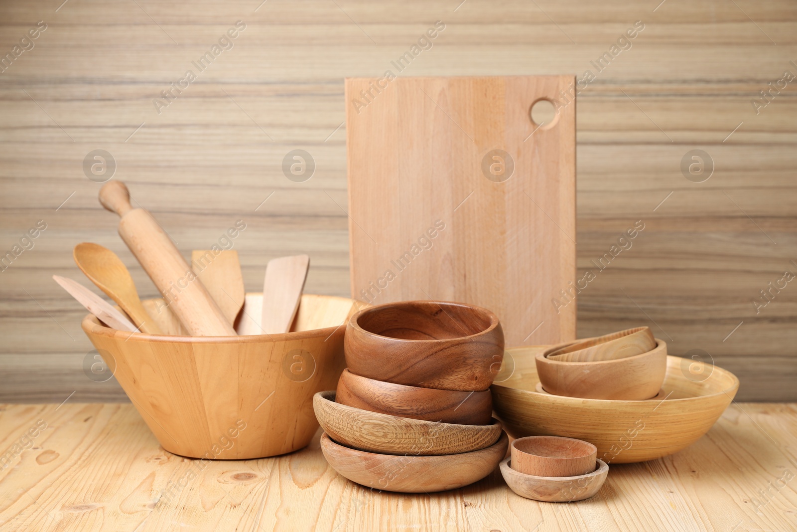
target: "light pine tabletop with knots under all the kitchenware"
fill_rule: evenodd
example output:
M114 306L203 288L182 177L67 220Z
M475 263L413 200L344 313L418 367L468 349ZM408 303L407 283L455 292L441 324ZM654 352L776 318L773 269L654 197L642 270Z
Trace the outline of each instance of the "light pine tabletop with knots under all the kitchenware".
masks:
M498 472L431 495L370 491L317 437L203 467L164 451L131 404L0 405L0 443L0 530L797 530L795 404L732 404L692 447L612 465L571 503L522 499Z

